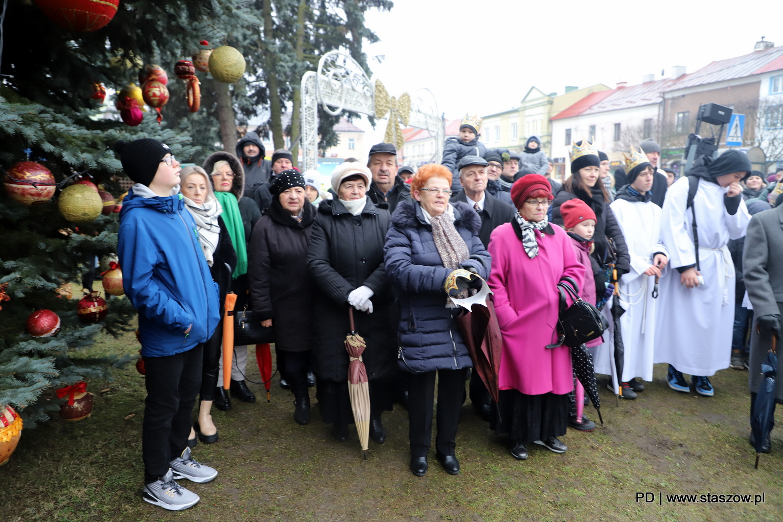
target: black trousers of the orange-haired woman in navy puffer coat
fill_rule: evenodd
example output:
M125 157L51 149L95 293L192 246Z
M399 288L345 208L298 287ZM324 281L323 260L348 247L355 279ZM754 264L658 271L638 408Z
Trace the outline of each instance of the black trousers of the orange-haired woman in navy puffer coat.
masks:
M410 455L426 457L432 441L432 408L435 405L435 373L411 373L408 385ZM438 455L454 455L456 427L465 394L467 368L441 369L438 373Z

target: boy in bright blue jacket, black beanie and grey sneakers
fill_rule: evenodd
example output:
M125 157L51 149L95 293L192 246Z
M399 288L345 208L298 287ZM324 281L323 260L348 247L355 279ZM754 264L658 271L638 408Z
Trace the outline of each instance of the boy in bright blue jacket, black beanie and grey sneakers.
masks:
M117 255L123 286L139 312L146 369L143 499L179 511L198 495L175 479L208 482L218 472L197 463L187 445L201 384L203 344L220 319L218 288L179 194L179 162L155 139L117 142L135 185L120 213Z

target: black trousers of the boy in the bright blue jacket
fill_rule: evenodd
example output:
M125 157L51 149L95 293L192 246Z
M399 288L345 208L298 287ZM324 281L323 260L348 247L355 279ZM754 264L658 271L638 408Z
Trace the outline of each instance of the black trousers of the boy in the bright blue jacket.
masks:
M146 391L142 428L144 483L168 472L168 463L188 444L190 415L201 386L204 344L166 357L145 357Z

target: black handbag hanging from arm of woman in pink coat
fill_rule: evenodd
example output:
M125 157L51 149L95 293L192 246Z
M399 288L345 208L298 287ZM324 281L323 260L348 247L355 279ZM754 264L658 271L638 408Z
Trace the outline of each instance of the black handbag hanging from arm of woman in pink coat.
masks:
M603 314L592 304L582 301L579 297L579 286L571 278L557 283L560 291L560 316L557 319L557 344L548 344L547 348L558 346L577 347L590 340L601 337L608 329L609 322ZM571 296L574 301L568 308L565 307L565 294Z

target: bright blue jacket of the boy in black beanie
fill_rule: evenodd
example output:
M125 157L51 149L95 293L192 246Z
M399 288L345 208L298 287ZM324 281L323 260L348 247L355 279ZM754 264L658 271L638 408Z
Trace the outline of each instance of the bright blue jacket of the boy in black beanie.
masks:
M161 197L133 185L122 201L117 256L139 312L144 357L179 354L211 337L220 320L218 284L182 195Z

